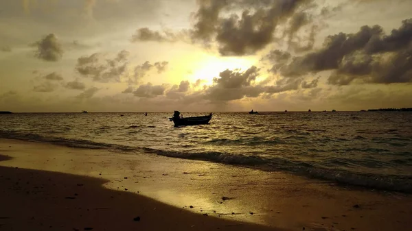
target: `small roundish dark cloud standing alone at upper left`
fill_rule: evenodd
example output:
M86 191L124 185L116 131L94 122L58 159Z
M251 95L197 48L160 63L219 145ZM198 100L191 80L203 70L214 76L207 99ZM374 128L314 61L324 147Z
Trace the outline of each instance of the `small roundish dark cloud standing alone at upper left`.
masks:
M43 39L35 42L33 46L37 47L34 56L41 60L56 62L63 56L62 46L54 34L45 36Z

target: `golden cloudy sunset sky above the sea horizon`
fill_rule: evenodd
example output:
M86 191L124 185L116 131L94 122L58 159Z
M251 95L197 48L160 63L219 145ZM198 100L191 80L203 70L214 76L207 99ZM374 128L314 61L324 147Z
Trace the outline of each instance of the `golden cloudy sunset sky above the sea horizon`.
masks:
M412 107L411 0L0 0L0 110Z

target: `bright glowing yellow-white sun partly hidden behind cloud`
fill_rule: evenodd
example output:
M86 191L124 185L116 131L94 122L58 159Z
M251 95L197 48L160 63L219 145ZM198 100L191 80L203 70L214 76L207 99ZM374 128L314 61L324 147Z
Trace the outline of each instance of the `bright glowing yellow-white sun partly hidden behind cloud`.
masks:
M255 60L250 58L206 56L194 64L192 73L187 77L192 82L203 80L202 85L211 85L213 78L219 77L220 72L226 69L246 71L253 66L254 63Z

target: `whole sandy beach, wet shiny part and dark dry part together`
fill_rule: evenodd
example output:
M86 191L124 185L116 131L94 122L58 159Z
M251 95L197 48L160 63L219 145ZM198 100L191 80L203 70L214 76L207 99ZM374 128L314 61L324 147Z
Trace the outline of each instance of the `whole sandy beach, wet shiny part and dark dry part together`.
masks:
M286 173L8 139L0 155L0 230L412 226L411 195Z

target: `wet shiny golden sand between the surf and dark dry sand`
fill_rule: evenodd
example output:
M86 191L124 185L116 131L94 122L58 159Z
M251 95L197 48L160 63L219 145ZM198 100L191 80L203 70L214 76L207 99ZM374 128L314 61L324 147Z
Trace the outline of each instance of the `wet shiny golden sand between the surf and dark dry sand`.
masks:
M255 223L259 229L277 230L408 230L411 226L412 196L403 193L358 190L213 162L8 139L0 139L0 154L13 158L1 161L1 168L98 178L106 182L100 182L100 191L125 193L127 189L126 193L143 195L175 212L217 219L213 223ZM16 182L16 177L10 178Z

